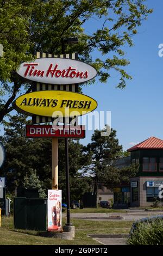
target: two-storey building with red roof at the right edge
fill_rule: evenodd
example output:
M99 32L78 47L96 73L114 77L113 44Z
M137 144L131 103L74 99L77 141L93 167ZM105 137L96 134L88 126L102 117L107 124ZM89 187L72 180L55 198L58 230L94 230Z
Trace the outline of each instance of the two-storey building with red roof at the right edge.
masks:
M162 205L163 140L150 137L127 151L130 152L130 164L139 164L139 172L135 178L130 179L128 186L121 186L118 192L114 193L114 204L144 207L151 206L155 200L158 200ZM120 160L120 168L122 160Z

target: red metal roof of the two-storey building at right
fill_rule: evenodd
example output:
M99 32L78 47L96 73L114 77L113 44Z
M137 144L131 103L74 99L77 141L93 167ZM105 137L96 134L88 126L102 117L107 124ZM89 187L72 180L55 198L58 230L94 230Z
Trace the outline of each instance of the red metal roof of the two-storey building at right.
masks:
M133 151L137 149L163 149L163 140L156 137L150 137L145 141L129 148L127 151Z

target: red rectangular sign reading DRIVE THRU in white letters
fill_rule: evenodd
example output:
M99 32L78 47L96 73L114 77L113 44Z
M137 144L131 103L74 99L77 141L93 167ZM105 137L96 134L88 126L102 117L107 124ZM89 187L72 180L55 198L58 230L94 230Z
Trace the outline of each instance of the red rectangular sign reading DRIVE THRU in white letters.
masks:
M27 138L85 138L85 125L26 125Z

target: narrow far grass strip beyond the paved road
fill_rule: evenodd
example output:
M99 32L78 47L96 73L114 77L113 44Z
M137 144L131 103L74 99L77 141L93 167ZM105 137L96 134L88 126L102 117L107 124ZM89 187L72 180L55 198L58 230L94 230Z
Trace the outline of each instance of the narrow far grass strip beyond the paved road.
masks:
M66 210L65 210L66 212ZM85 208L85 209L71 209L72 214L99 214L99 213L111 213L111 212L127 212L126 210L115 210L106 208Z

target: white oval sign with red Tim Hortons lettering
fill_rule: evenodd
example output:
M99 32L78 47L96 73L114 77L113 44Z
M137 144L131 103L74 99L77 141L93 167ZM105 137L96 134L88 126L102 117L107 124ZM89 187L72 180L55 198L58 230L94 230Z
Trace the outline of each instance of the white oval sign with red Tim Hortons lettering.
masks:
M97 75L91 65L65 58L40 58L34 62L24 62L17 73L26 80L47 84L84 83Z

